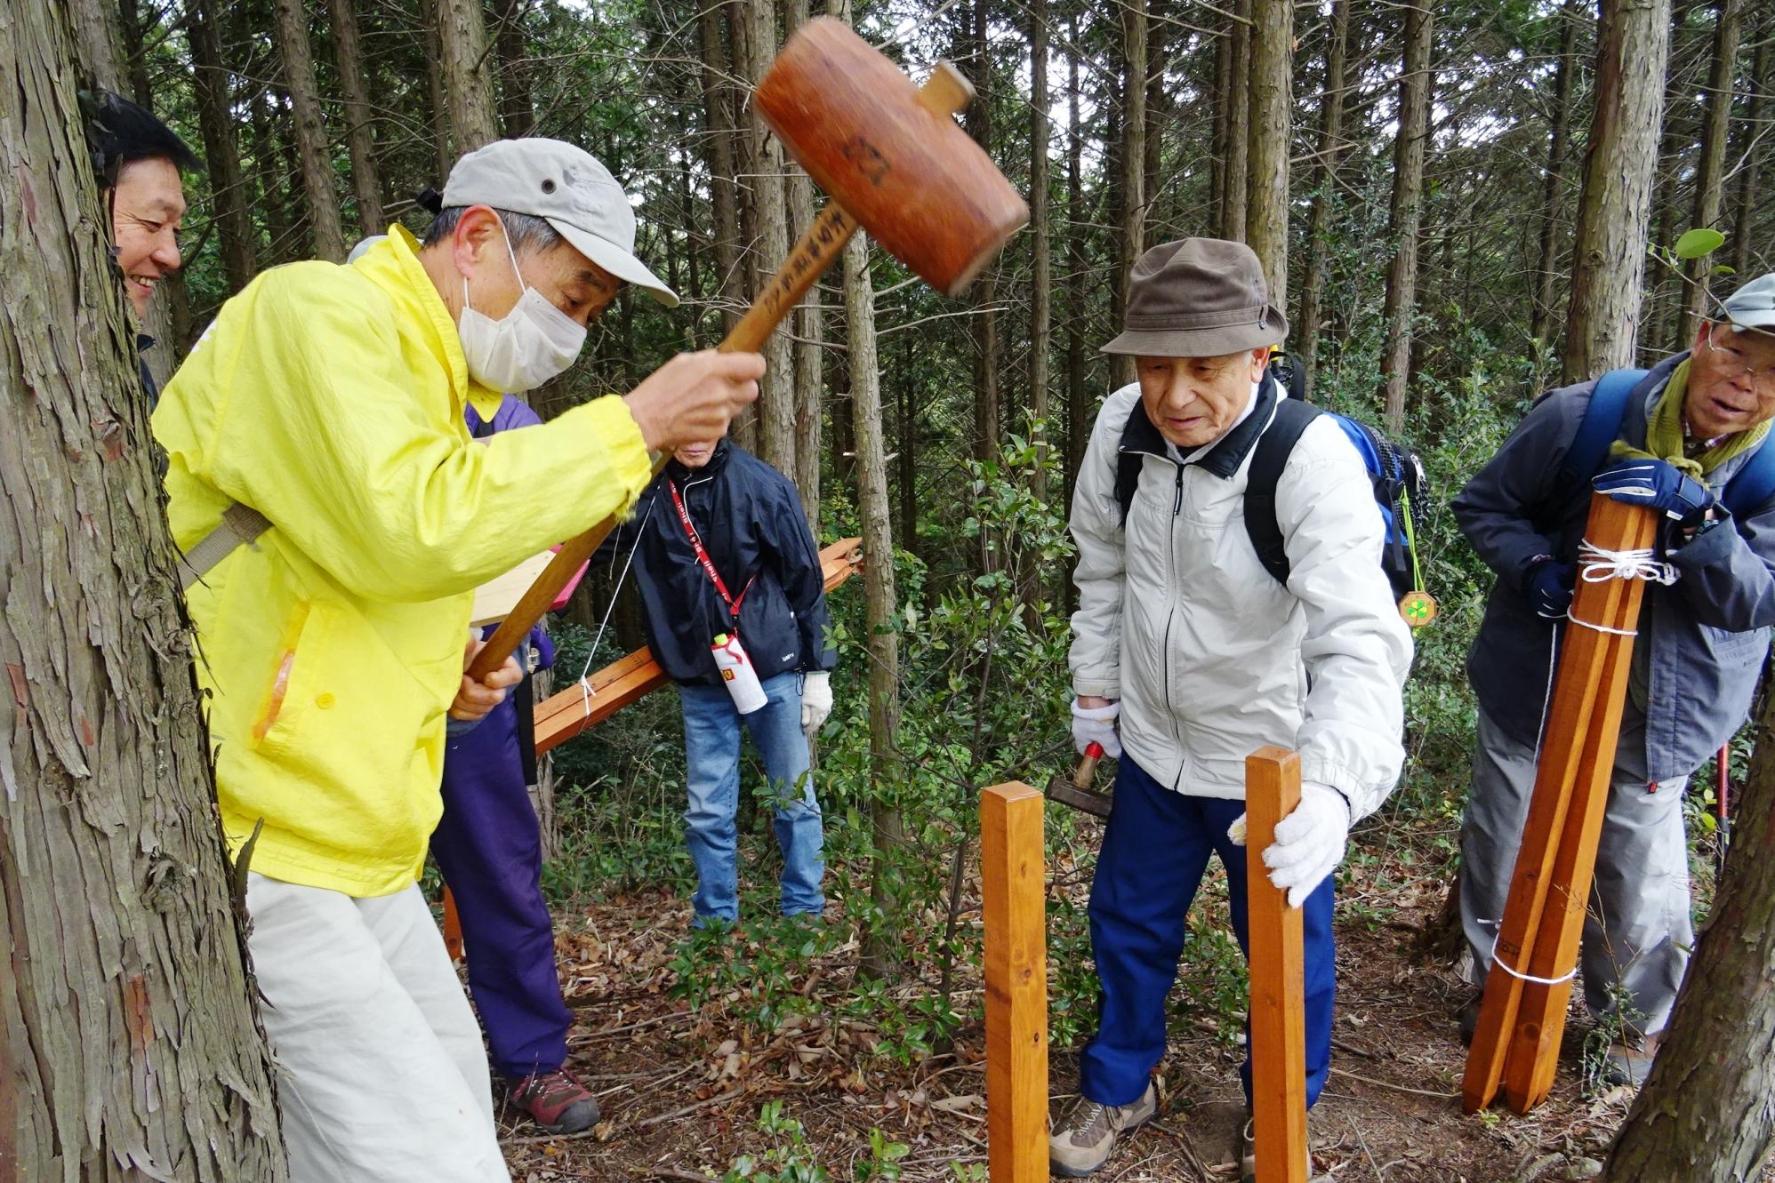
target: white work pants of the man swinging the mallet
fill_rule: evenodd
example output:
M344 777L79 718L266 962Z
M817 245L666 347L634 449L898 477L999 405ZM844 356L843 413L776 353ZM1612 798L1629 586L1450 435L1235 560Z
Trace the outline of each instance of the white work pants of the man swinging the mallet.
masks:
M419 885L247 876L291 1183L511 1183L481 1029Z

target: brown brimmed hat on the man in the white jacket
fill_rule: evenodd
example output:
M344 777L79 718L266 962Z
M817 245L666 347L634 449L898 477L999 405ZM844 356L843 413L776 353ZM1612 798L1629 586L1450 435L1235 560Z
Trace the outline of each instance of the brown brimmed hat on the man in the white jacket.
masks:
M1269 303L1264 266L1250 247L1186 238L1154 247L1134 264L1122 335L1102 351L1223 356L1287 335L1289 321Z

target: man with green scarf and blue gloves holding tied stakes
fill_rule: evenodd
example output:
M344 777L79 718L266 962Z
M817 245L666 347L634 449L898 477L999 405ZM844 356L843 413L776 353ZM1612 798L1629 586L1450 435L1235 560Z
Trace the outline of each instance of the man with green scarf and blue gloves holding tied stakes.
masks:
M1631 390L1587 481L1569 456L1583 454L1574 442L1603 383ZM1621 1084L1645 1078L1695 942L1684 784L1743 725L1775 624L1775 497L1736 514L1720 500L1771 417L1775 273L1740 287L1686 353L1637 381L1605 376L1548 394L1454 502L1498 575L1468 658L1479 741L1461 825L1461 922L1475 984L1491 968L1528 812L1590 490L1663 513L1658 557L1676 580L1645 589L1580 960L1590 1013L1617 1032L1608 1077ZM1477 999L1461 1016L1464 1038L1475 1016Z

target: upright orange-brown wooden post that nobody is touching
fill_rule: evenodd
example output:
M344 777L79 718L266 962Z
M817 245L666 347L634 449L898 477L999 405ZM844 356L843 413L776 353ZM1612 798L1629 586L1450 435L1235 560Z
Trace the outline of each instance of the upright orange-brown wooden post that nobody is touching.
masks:
M987 979L987 1171L1047 1181L1047 912L1042 795L980 795L980 896Z

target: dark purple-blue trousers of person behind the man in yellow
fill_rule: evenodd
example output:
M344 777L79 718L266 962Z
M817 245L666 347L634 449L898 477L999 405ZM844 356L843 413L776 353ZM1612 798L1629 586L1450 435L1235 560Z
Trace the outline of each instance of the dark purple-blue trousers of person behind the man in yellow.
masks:
M444 750L444 818L431 857L456 896L469 993L493 1069L508 1080L556 1071L566 1061L573 1016L556 975L541 832L509 697Z

